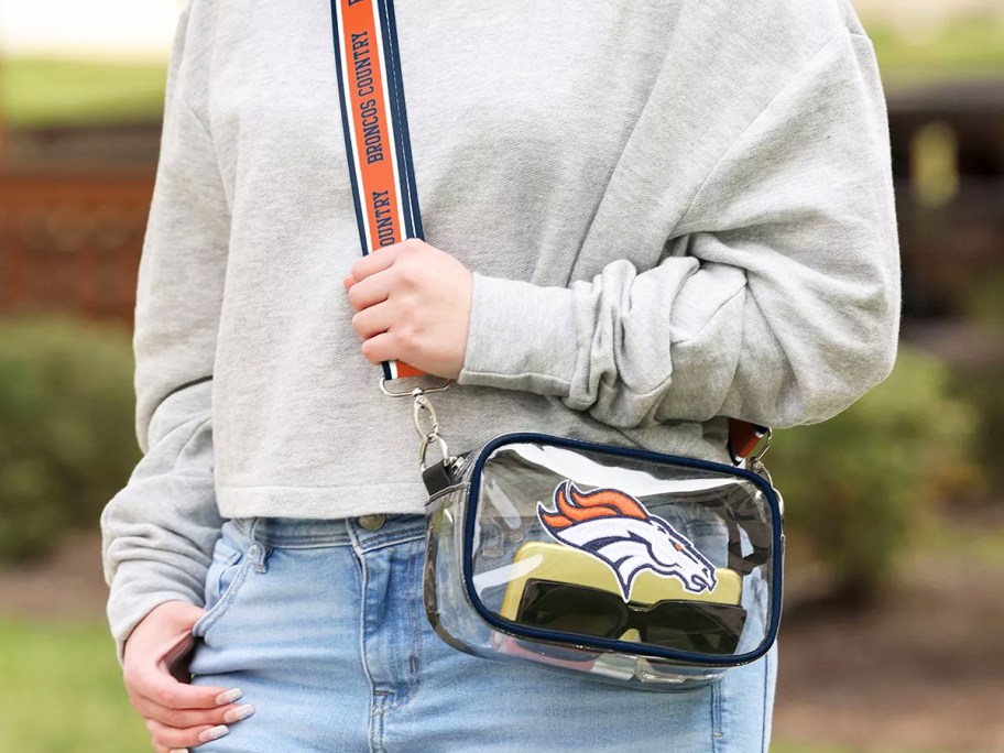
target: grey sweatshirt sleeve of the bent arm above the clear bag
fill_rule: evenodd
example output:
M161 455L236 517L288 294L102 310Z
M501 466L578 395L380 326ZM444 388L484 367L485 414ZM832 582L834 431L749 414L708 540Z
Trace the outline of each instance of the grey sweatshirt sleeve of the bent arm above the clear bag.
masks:
M621 259L565 288L476 272L458 383L558 396L625 428L783 427L826 419L888 374L898 241L866 36L842 30L800 66L714 163L666 249L650 270Z

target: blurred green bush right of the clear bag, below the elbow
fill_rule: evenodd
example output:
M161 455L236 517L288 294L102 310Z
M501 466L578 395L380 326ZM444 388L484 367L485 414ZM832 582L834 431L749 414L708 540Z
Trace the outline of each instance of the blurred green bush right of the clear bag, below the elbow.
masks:
M901 347L892 375L848 411L778 433L767 465L786 528L828 570L830 597L874 597L936 504L979 482L976 417L949 381L941 361Z

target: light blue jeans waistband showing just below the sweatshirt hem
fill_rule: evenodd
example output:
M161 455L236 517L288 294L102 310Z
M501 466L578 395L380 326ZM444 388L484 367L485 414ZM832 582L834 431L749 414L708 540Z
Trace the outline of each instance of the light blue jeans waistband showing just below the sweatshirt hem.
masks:
M272 548L354 545L373 549L425 536L425 515L237 517L232 522L249 538Z

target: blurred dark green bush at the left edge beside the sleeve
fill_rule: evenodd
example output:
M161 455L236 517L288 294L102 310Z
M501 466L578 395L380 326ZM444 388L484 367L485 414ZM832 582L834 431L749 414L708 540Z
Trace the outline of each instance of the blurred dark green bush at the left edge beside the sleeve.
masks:
M95 527L140 458L132 348L121 327L0 320L0 561Z

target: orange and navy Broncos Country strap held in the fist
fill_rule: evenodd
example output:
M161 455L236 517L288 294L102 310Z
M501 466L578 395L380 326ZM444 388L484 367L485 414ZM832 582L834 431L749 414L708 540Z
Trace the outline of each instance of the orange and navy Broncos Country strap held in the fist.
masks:
M423 238L393 0L331 0L338 94L363 255ZM385 361L384 378L425 372Z

